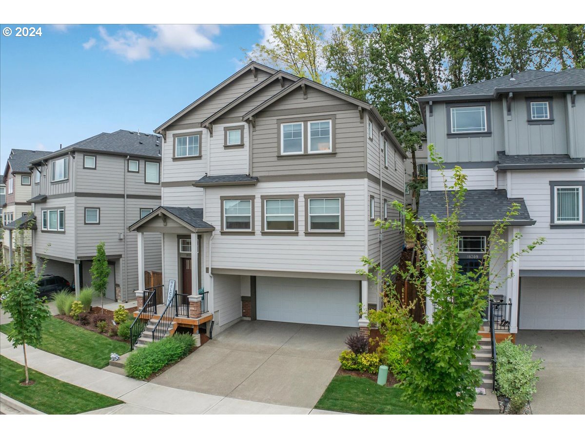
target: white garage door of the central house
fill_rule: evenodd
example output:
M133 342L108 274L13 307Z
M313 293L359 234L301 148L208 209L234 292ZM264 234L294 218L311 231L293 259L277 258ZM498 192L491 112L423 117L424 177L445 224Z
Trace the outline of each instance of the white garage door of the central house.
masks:
M256 318L316 325L356 327L356 280L256 278Z

